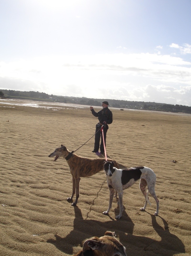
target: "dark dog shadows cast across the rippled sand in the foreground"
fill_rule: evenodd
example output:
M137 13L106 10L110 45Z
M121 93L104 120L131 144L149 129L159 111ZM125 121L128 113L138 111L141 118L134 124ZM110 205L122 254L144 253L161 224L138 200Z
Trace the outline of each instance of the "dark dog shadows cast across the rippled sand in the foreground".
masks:
M145 253L148 253L148 255L172 256L178 253L185 253L185 247L182 241L177 236L170 233L167 222L160 216L150 214L152 226L156 233L161 237L160 241L156 241L152 238L136 236L133 234L134 223L126 214L125 207L122 219L114 220L108 215L105 216L106 218L109 217L109 220L106 222L89 219L88 214L87 219L84 219L80 208L77 206L74 207L74 213L73 230L66 237L61 237L55 234L55 239L47 240L48 243L52 243L61 252L74 254L73 247L79 245L83 247L83 241L93 236L101 237L106 230L109 230L115 231L118 240L127 248L127 255L135 255L135 250L137 250L136 255L145 255ZM118 213L119 207L115 208L115 215ZM145 211L145 214L149 213ZM157 218L160 218L163 221L163 227L157 223Z

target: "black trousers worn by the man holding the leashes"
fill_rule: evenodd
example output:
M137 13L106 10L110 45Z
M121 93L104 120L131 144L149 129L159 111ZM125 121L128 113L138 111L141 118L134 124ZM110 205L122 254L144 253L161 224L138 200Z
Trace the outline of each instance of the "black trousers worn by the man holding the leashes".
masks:
M103 137L104 137L104 143L105 143L105 146L106 146L106 133L107 133L107 130L108 130L108 125L106 124L106 125L103 126L103 134L102 134L102 131L101 131L101 127L102 127L101 124L99 124L99 123L96 124L94 150L98 151L99 147L100 147L100 151L104 152ZM101 137L101 144L100 144L100 137Z

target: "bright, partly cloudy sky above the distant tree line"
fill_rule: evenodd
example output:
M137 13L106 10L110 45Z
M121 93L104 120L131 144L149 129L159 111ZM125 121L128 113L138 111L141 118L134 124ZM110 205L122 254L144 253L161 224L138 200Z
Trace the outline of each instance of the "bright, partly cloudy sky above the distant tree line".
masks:
M0 0L0 90L191 106L191 0Z

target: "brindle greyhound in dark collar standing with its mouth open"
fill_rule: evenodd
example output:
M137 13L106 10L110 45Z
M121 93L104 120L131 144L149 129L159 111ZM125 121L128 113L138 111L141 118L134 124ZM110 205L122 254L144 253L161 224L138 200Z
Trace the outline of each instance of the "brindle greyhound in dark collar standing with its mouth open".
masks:
M70 172L72 174L72 196L68 197L67 201L72 200L76 193L76 200L72 203L72 206L75 206L78 202L80 177L89 177L99 173L101 170L103 170L103 162L105 161L105 158L87 158L78 156L71 153L63 145L56 148L54 152L49 155L49 157L55 157L54 161L60 157L63 157L66 159L70 167ZM108 160L112 161L111 159ZM116 161L113 161L113 163L115 167L119 168Z

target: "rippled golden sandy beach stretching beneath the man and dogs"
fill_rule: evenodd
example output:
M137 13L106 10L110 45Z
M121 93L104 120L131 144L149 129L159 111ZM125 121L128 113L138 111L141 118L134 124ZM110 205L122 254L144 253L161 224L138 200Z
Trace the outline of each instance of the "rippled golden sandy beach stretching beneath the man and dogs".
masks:
M16 101L14 101L16 102ZM0 102L0 255L73 255L93 236L115 231L127 255L191 255L191 115L111 109L107 156L120 168L147 166L157 176L156 203L146 211L139 182L124 191L124 211L113 200L103 171L81 178L75 207L65 159L48 155L61 144L74 151L95 132L89 107ZM43 107L41 107L43 106ZM96 111L100 108L95 108ZM92 153L94 138L75 153ZM176 163L171 162L176 160ZM103 158L104 161L104 158Z

